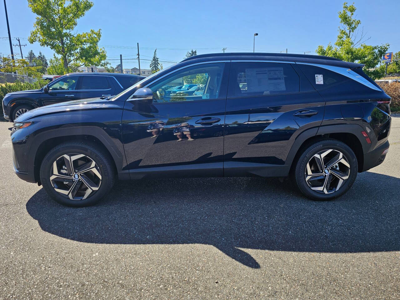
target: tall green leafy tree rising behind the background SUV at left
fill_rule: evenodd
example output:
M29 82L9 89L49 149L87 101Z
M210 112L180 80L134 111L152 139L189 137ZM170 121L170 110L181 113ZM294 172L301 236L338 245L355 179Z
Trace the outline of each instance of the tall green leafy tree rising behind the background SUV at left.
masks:
M50 47L60 56L64 73L79 66L105 66L106 50L99 48L101 30L78 33L77 20L93 6L89 0L28 0L37 14L34 29L28 38L32 44Z

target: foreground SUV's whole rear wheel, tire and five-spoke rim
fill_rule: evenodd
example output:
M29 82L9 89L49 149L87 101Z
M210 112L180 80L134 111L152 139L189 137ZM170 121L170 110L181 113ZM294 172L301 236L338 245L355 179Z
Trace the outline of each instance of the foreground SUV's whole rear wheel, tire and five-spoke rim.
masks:
M302 152L292 175L307 197L331 200L348 191L357 172L357 158L349 146L338 140L321 140Z

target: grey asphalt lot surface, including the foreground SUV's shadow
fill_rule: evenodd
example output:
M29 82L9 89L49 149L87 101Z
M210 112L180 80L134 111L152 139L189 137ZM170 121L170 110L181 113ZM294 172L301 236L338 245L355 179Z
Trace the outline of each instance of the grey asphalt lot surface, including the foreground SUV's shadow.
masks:
M398 299L400 115L331 202L264 178L116 184L67 208L12 169L0 122L0 299Z

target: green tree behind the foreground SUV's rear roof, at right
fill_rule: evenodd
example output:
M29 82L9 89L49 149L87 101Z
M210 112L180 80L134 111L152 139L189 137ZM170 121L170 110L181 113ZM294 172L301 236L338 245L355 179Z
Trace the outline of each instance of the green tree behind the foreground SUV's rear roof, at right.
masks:
M389 44L370 46L365 44L369 38L365 38L364 28L359 29L361 24L354 16L357 8L352 5L343 4L343 10L338 12L340 24L337 40L324 48L318 46L316 53L324 56L332 56L348 62L364 64L364 72L372 79L381 78L385 74L385 66L377 65L381 62L383 54L388 50Z

